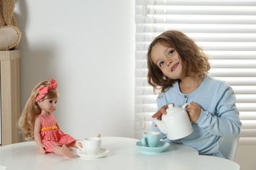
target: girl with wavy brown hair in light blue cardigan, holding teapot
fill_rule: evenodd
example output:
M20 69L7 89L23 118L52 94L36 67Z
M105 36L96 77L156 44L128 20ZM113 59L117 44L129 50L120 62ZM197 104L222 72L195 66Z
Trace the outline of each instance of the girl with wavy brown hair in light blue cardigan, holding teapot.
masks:
M148 48L148 83L161 90L152 118L167 114L169 103L178 107L190 103L186 109L194 132L173 142L196 148L199 154L223 157L219 152L223 137L237 137L242 124L234 91L226 82L207 76L209 69L202 49L181 31L165 31ZM154 123L152 129L159 131Z

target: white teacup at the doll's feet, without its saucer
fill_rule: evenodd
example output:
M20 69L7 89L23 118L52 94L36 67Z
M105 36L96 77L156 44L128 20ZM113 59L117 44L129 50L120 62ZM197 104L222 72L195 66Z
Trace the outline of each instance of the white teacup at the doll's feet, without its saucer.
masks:
M86 152L89 155L96 155L100 150L100 137L85 137L83 141L77 141L78 152ZM81 147L82 146L82 147Z

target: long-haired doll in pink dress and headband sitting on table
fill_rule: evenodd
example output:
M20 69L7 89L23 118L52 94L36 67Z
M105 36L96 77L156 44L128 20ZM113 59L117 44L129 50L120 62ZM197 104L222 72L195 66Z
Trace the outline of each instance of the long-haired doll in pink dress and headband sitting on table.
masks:
M18 126L26 140L35 140L41 154L54 152L61 156L74 158L72 150L68 147L77 148L76 141L60 130L53 116L59 95L56 90L57 86L57 82L51 78L50 82L40 82L33 88L18 121Z

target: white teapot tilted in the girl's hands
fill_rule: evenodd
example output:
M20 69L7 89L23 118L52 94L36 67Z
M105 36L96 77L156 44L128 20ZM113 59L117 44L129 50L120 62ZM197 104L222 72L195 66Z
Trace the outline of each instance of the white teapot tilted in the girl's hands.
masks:
M187 105L189 104L185 103L182 107L174 107L171 103L166 109L167 114L162 114L161 120L153 120L160 131L167 135L167 139L181 139L193 132L192 124L186 112Z

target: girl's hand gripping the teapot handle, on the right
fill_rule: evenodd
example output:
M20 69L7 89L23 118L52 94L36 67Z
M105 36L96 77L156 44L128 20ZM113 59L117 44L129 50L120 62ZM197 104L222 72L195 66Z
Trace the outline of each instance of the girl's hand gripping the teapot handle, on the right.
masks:
M200 118L201 107L197 103L191 102L190 105L186 107L188 112L188 117L192 123L196 123Z

